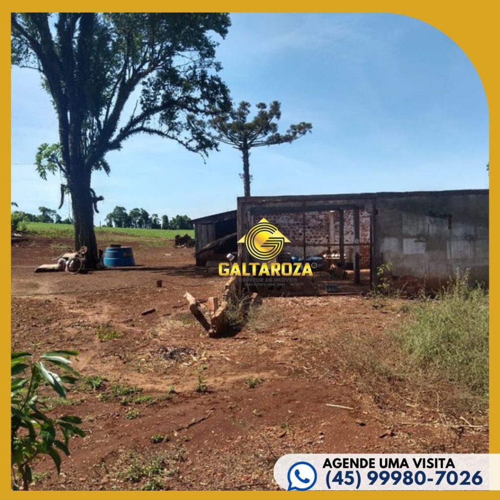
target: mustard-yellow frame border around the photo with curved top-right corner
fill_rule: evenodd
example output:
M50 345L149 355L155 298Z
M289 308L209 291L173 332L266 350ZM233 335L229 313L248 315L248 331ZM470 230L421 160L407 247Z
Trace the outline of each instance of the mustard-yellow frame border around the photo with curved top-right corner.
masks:
M496 157L495 150L497 148L496 141L494 137L497 136L498 130L497 116L498 116L498 95L500 94L500 82L498 81L498 63L497 63L497 51L494 49L494 40L497 38L498 30L498 11L500 8L498 6L493 6L491 1L475 1L470 2L452 2L452 1L366 1L358 0L355 2L339 2L339 1L313 1L307 2L306 7L303 2L298 1L253 1L251 4L236 3L234 1L210 1L210 2L200 2L191 1L189 3L181 4L176 2L175 5L171 5L169 2L160 1L141 1L141 2L131 2L131 1L86 1L80 4L82 10L85 11L224 11L224 12L385 12L406 15L414 17L421 21L424 21L434 28L439 29L449 38L451 38L469 57L472 65L475 67L479 78L484 86L484 91L486 93L486 98L489 107L489 126L490 126L490 163L493 164L492 171L490 169L490 182L495 189L496 180L496 168L494 166L494 158ZM42 8L43 7L43 8ZM1 141L3 156L8 156L10 159L10 12L11 11L71 11L76 10L74 3L62 2L62 1L23 1L23 2L5 2L2 7L2 14L0 16L0 35L1 35L1 47L0 47L0 57L1 57L1 69L3 77L1 79L1 98L2 98L2 109L4 110L4 120L1 123ZM140 7L140 8L139 8ZM491 133L493 131L493 133ZM5 161L6 164L6 161ZM471 165L471 168L480 168L481 165ZM463 186L466 187L466 186ZM5 227L7 224L7 209L6 205L10 200L10 168L8 168L7 181L2 182L0 185L2 205L5 205L4 211L4 222ZM494 192L494 191L493 191ZM494 257L492 251L496 247L496 243L500 239L498 237L498 221L494 216L500 213L498 210L498 205L500 204L500 199L496 199L494 196L490 199L490 255ZM3 216L2 216L3 217ZM71 498L73 497L83 497L87 495L86 491L33 491L28 493L12 492L10 490L10 466L8 465L9 449L8 444L8 412L7 412L7 381L9 376L7 375L7 369L9 368L9 350L10 350L10 253L7 251L9 246L7 244L7 231L2 231L4 238L2 237L3 244L1 246L1 254L4 257L1 259L0 267L0 279L1 279L1 318L2 318L2 343L4 349L2 349L2 372L1 383L3 387L2 393L5 397L5 404L2 406L1 412L1 446L3 453L1 454L1 491L7 494L19 495L28 494L35 495L36 497L46 497L46 498L62 498L64 495L66 498L68 494ZM500 429L498 428L498 416L500 415L500 394L498 385L492 383L492 381L500 380L500 363L498 362L498 354L500 353L500 338L496 335L496 326L498 324L498 314L495 312L494 304L496 303L498 297L498 283L495 281L495 276L498 274L498 264L495 258L490 259L490 280L489 289L491 295L490 307L490 429L489 429L489 451L490 453L500 453ZM3 398L2 398L3 399ZM99 493L98 493L99 494ZM120 497L126 496L137 496L143 495L142 491L105 491L102 494L106 495L120 495ZM174 497L187 498L190 496L197 496L203 498L220 498L223 495L226 498L237 494L238 497L254 497L256 495L277 496L288 494L287 492L281 491L265 491L265 492L255 492L255 491L238 491L236 492L195 492L195 491L155 491L146 492L145 494L154 495L170 495ZM355 496L356 498L361 496L370 496L373 498L377 497L400 497L402 494L405 496L415 496L415 495L428 495L432 497L443 498L451 497L458 498L464 495L470 496L470 494L478 494L466 491L349 491L340 493L338 491L317 491L311 493L316 497L321 495L322 498L326 498L331 495L342 495L342 496ZM482 493L487 494L487 493ZM215 496L216 495L216 496ZM100 494L99 494L100 496Z

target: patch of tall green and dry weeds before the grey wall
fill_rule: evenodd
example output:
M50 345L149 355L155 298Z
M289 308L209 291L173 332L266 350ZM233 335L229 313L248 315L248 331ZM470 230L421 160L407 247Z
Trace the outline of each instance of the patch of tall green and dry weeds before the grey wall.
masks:
M384 406L404 397L450 413L488 403L488 293L457 274L434 298L400 307L402 325L388 333L359 332L339 345L356 383Z

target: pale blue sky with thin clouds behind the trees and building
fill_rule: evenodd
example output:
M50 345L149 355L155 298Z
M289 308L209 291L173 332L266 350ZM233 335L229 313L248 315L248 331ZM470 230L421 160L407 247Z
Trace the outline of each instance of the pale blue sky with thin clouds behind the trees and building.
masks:
M251 151L253 195L485 188L488 110L481 81L446 35L396 14L238 13L220 41L232 98L281 102L280 130L310 121L292 144ZM37 73L12 69L12 200L56 208L59 176L41 180L36 147L57 141ZM222 144L206 163L173 141L135 136L93 175L115 205L192 218L235 208L238 151ZM66 202L60 210L65 217Z

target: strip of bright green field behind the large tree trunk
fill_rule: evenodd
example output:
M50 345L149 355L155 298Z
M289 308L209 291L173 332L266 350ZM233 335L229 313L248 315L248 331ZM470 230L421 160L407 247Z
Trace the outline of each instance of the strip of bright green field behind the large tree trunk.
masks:
M28 222L27 229L40 236L49 238L72 238L71 224L51 224L47 222ZM97 239L173 239L176 234L194 237L193 229L137 229L134 227L95 227ZM130 238L130 236L132 238Z

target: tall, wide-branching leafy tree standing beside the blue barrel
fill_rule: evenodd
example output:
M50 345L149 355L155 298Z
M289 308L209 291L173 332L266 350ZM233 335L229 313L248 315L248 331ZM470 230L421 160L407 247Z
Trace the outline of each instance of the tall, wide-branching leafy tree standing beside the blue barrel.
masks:
M138 133L202 155L216 146L203 116L229 104L212 38L229 25L223 13L12 14L12 63L40 72L58 119L59 143L45 145L37 167L65 177L74 244L87 246L89 265L97 259L91 175L109 171L108 151Z

